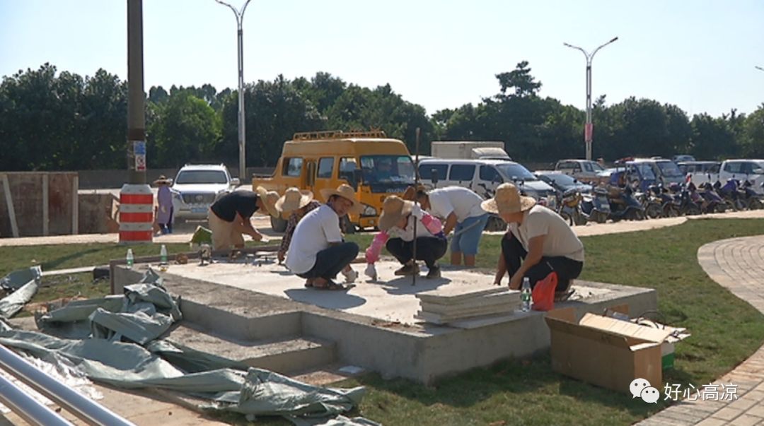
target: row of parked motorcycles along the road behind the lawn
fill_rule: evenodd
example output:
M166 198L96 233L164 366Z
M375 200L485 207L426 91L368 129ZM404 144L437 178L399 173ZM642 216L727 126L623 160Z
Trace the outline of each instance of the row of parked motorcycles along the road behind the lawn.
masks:
M571 225L588 221L675 218L764 207L764 195L753 189L753 182L740 179L728 179L724 184L718 180L713 184L703 182L698 186L693 182L668 186L656 183L645 191L639 191L639 186L599 185L591 193L581 193L578 189L558 192L555 201L555 206L550 207Z

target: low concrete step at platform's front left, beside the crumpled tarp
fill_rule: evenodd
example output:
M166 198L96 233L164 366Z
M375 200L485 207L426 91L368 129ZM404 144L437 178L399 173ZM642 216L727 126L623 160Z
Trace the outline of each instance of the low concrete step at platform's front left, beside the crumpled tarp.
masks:
M170 331L166 338L192 349L282 374L311 369L335 360L333 342L306 337L238 340L186 321Z

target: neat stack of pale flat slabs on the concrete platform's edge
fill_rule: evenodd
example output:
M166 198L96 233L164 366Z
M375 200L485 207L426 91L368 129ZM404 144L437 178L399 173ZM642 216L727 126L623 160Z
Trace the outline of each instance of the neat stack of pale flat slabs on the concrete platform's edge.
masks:
M467 318L511 313L520 306L520 292L507 287L448 286L416 295L418 319L448 324Z

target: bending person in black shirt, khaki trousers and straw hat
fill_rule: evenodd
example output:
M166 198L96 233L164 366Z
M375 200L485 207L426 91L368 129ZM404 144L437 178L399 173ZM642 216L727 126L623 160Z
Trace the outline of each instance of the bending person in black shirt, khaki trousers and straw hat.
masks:
M241 190L223 195L209 207L207 213L212 247L215 250L244 247L244 234L255 241L261 240L263 235L252 227L250 218L255 211L277 215L274 205L278 198L277 192L266 191L261 186L257 187L256 192Z

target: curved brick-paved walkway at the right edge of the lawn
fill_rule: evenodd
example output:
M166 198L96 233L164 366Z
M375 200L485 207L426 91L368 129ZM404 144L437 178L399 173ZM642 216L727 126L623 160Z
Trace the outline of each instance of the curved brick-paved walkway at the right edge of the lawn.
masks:
M706 244L698 262L720 286L764 313L764 235ZM714 383L737 385L738 399L683 401L639 424L764 424L764 346Z

